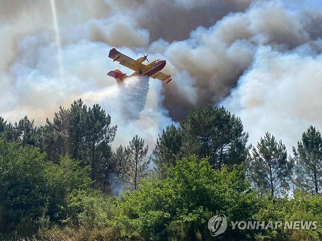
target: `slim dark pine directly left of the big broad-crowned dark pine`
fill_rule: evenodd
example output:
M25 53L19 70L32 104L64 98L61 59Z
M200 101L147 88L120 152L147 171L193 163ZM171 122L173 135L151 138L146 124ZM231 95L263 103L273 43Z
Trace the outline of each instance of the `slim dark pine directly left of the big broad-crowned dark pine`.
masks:
M157 138L156 147L153 151L154 163L159 171L163 170L163 165L174 166L176 159L181 158L182 131L175 125L167 126Z

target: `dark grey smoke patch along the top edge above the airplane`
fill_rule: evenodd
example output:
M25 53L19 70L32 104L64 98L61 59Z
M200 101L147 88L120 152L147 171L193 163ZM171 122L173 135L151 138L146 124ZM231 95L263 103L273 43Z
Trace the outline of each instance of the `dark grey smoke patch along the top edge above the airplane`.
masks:
M125 11L151 41L187 39L199 26L209 27L230 12L244 11L253 0L107 0L116 12Z

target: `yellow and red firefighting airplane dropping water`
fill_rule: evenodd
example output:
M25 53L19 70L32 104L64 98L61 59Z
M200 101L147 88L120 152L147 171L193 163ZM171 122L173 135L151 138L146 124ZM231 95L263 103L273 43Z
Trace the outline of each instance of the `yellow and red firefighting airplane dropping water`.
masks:
M126 56L125 54L118 52L115 48L112 48L110 50L109 57L113 59L113 62L117 61L121 65L133 69L135 71L130 76L127 76L126 74L122 73L121 70L119 70L118 68L108 72L107 75L115 78L117 84L121 84L124 81L124 79L128 77L140 75L146 75L154 79L157 78L161 81L165 81L165 84L169 83L172 80L170 75L160 72L160 70L164 68L166 64L165 60L155 60L148 65L144 65L142 64L142 62L144 62L145 60L149 62L147 59L147 55L143 54L143 57L134 60Z

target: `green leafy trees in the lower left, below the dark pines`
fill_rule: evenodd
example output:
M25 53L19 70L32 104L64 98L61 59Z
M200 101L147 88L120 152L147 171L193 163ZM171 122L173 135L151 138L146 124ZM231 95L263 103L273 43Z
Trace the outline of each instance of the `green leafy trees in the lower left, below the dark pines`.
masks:
M90 191L89 168L62 157L60 164L45 162L45 153L20 143L0 139L0 233L31 230L48 210L50 219L66 214L66 196L75 190ZM27 228L23 228L23 227Z

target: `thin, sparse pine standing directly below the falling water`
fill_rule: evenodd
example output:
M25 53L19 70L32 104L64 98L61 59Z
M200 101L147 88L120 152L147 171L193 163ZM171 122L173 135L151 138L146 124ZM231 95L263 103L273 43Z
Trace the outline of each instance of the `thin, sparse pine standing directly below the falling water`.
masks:
M121 155L121 147L119 155ZM129 145L124 149L125 163L121 164L120 181L130 190L138 189L138 184L148 174L150 159L146 157L148 146L138 135L134 136Z

